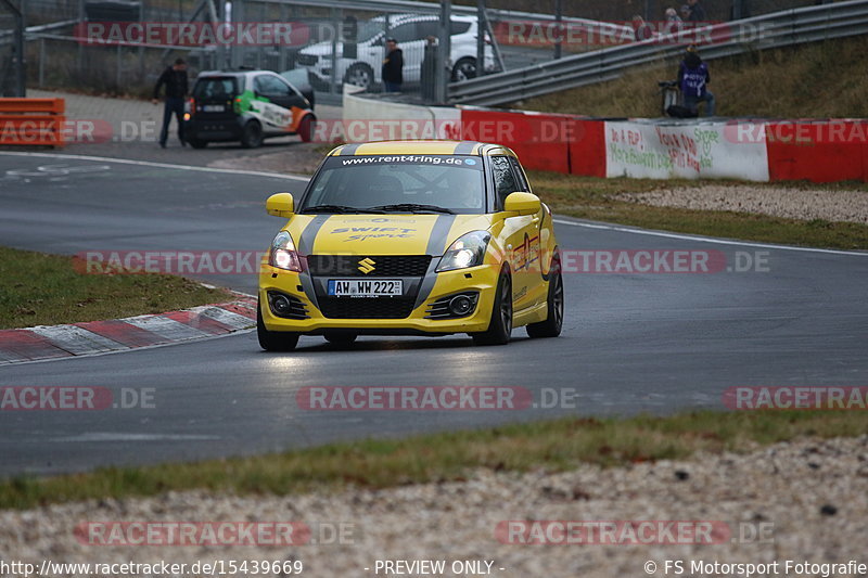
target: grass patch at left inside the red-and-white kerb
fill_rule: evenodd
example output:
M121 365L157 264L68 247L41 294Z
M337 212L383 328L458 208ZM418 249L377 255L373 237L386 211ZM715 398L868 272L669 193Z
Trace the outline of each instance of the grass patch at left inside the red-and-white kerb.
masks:
M0 329L162 313L231 297L181 277L82 274L73 257L0 247Z

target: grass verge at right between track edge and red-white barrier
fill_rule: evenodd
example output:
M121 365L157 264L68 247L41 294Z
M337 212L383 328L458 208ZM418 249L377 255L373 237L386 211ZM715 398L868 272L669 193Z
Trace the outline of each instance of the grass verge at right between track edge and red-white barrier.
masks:
M681 233L841 249L868 248L868 226L853 222L784 219L726 210L653 207L612 198L620 193L642 193L674 187L698 187L702 181L578 177L533 171L534 190L554 213L584 219L663 229ZM716 181L716 184L743 184ZM756 188L813 187L810 183L750 183ZM826 189L864 190L864 183L825 183Z

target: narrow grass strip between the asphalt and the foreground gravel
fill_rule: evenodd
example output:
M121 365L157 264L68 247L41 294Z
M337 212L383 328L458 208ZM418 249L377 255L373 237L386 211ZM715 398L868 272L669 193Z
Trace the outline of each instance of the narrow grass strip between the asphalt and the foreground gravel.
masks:
M853 437L868 420L851 411L700 411L668 418L570 418L501 427L366 440L252 458L112 467L0 481L0 509L207 489L289 494L347 486L386 488L463 480L474 468L565 471L580 463L623 465L697 451L746 451L799 436Z

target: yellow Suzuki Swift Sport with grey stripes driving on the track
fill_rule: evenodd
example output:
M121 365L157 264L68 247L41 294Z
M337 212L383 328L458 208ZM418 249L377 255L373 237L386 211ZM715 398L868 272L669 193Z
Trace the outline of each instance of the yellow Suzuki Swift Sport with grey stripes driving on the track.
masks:
M551 211L515 154L496 144L392 141L334 149L264 257L257 333L264 349L299 335L467 333L502 345L512 329L554 337L563 281Z

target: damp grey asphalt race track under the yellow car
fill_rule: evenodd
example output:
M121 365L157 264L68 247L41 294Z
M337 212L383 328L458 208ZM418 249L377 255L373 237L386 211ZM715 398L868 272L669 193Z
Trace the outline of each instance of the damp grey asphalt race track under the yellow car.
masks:
M0 244L50 253L263 251L264 210L303 179L108 159L0 153ZM507 347L467 336L365 337L340 350L303 337L263 352L254 333L0 367L0 386L153 388L155 408L0 413L0 475L247 454L368 436L467 428L562 413L722 409L739 385L868 384L868 254L769 247L559 219L563 249L703 249L767 270L566 273L558 339ZM711 241L711 242L710 242ZM740 254L737 257L737 253ZM205 275L253 293L255 275ZM306 411L311 385L509 385L577 393L575 408ZM565 406L570 406L567 403Z

